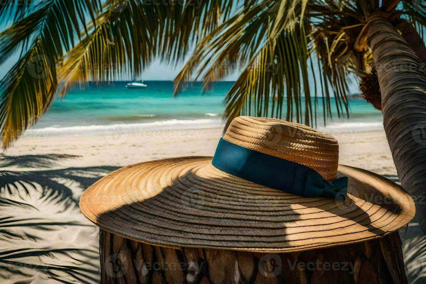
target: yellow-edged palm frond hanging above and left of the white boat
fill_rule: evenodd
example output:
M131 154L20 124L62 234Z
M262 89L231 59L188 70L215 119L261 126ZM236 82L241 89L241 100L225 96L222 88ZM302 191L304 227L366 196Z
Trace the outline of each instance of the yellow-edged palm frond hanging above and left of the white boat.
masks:
M152 19L167 17L167 9L155 10L155 7L148 9L139 0L129 0L125 8L108 8L90 23L83 40L61 58L60 95L65 95L70 86L90 80L137 77L158 48L154 35L158 33L159 23Z

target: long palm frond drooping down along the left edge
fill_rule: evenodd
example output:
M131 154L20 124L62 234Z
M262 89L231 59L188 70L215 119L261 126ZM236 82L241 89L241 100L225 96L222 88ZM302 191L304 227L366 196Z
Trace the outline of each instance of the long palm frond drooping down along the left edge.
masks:
M0 81L0 137L8 147L46 111L55 97L56 64L73 46L97 0L49 0L0 34L1 58L21 48L22 55Z

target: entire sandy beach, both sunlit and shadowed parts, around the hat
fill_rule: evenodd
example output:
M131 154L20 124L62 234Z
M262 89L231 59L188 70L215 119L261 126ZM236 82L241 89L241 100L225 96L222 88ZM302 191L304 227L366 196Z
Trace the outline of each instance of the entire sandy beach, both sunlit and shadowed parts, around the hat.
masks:
M384 131L332 134L340 164L398 181ZM0 158L0 283L99 283L98 228L78 208L83 190L128 164L213 155L221 135L196 129L21 138ZM419 232L410 224L406 250Z

